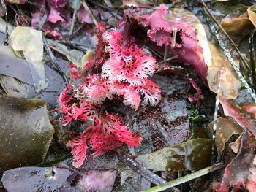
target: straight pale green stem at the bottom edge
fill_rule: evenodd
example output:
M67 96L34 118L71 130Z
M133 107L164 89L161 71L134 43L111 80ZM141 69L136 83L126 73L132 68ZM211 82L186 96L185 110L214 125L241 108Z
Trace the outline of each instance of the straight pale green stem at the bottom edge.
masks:
M162 185L158 185L156 187L153 188L148 188L147 190L143 191L143 192L157 192L157 191L164 191L165 189L168 188L173 188L176 185L181 185L181 183L185 183L188 182L189 180L194 180L197 177L201 177L205 174L208 174L210 172L214 172L217 169L222 169L224 166L223 164L214 164L213 166L208 166L205 169L201 169L197 172L193 172L192 174L187 174L184 177L180 177L176 180L172 180L170 182L164 183Z

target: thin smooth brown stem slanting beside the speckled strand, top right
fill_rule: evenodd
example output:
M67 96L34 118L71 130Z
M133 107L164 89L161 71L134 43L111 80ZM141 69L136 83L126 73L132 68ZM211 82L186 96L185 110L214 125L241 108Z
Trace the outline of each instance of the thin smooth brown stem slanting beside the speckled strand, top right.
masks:
M225 36L227 37L227 39L230 41L231 45L235 48L236 52L238 53L239 57L241 58L241 61L244 63L244 66L246 66L246 69L249 70L249 64L247 64L247 62L245 61L243 55L241 54L240 50L238 50L238 47L236 47L236 43L233 42L233 39L231 39L231 37L227 34L227 32L225 31L225 29L218 23L218 21L216 20L216 18L214 18L214 15L211 14L211 11L208 9L207 5L205 4L205 2L203 0L200 0L201 4L204 7L204 11L207 12L208 16L214 20L214 23L219 27L219 29L222 31L223 34L225 34Z

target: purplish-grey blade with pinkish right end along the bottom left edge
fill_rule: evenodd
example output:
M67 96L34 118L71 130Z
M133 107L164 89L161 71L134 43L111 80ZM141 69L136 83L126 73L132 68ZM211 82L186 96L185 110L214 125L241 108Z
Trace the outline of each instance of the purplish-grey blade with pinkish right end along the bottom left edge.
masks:
M115 170L74 172L56 167L21 167L4 172L2 182L8 192L41 191L110 192L116 178Z

